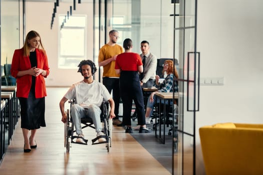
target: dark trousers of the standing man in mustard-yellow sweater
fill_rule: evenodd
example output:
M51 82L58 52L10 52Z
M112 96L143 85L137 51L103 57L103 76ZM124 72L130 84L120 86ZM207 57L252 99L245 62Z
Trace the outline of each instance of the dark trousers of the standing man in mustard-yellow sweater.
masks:
M112 91L112 98L115 103L115 109L114 113L116 117L113 119L118 119L119 118L119 106L120 106L120 79L119 78L109 78L109 77L103 77L102 83L106 86L108 89L109 93Z

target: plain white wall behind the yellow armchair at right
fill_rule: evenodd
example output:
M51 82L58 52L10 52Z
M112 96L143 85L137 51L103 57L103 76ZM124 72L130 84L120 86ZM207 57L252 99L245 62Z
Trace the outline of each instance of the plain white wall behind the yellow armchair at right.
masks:
M200 76L224 77L225 81L224 85L200 86L196 174L204 174L200 126L228 121L263 123L262 31L262 0L198 0Z

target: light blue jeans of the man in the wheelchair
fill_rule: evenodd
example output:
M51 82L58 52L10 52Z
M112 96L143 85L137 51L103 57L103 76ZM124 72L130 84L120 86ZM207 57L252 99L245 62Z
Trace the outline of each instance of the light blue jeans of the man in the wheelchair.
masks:
M84 117L92 118L96 132L102 131L100 114L101 109L95 104L91 104L87 108L84 108L79 104L73 104L71 107L71 116L73 119L74 126L76 128L76 133L78 135L82 133L81 118Z

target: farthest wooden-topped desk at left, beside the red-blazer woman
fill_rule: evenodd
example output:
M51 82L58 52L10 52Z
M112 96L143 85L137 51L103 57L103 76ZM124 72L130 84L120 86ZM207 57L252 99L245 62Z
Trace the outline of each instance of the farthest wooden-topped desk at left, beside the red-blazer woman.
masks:
M19 107L19 100L17 97L17 86L16 85L1 85L1 91L13 91L14 92L14 112L15 112L15 124L18 122L18 117L20 116L20 107ZM14 125L15 127L15 125Z

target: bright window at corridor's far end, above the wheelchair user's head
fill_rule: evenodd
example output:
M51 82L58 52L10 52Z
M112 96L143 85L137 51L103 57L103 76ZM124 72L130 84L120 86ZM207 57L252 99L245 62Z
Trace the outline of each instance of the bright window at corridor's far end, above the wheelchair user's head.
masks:
M59 30L59 68L76 68L87 56L86 20L86 16L59 16L59 28L64 22Z

